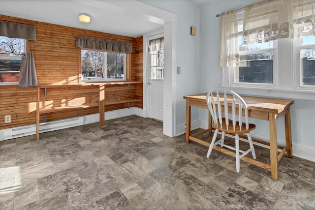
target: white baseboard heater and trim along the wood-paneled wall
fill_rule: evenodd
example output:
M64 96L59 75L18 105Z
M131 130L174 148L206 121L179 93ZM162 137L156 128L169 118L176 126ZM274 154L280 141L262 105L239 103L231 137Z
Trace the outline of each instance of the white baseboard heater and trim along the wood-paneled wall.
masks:
M126 108L126 109L119 109L119 110L105 112L105 123L106 123L106 120L112 120L112 119L122 118L122 117L126 117L126 116L131 116L131 115L137 115L137 116L142 117L143 116L143 111L142 111L142 109L139 109L139 108L136 108L136 107L131 107L129 109ZM90 124L90 123L99 122L99 114L86 115L86 116L83 116L83 119L84 119L83 123L81 123L81 124ZM54 122L56 122L58 124L59 121L66 121L66 120L56 120ZM49 122L49 123L52 123L52 122ZM67 125L65 122L60 122L60 123L61 123L61 126L59 126L59 127L57 126L56 128L45 129L44 131L40 127L39 128L39 133L77 126L77 125ZM43 123L41 123L41 124L43 124ZM22 129L23 127L26 127L26 126L14 127L12 129L19 129L19 128ZM19 133L18 136L11 137L11 138L8 138L7 136L5 136L5 134L8 133L8 130L10 130L10 128L9 129L0 130L0 141L7 140L7 139L12 139L12 138L17 138L17 137L22 137L22 136L34 135L35 134L35 129L36 129L36 125L35 124L27 125L27 130L29 132Z

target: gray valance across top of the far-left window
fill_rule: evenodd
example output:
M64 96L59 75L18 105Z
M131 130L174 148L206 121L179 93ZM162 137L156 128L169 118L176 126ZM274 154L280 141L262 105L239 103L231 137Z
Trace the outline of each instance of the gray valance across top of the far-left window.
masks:
M36 40L35 26L0 20L0 36Z

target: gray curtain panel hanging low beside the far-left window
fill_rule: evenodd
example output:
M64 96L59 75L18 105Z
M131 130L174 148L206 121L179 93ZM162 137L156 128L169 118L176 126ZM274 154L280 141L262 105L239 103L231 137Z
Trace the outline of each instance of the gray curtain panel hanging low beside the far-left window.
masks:
M33 53L22 56L19 87L37 86L37 77Z

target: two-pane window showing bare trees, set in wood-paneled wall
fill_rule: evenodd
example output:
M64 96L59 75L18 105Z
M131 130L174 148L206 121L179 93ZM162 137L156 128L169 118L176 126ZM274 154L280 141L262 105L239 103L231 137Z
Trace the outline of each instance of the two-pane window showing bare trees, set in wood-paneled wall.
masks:
M81 50L82 81L126 80L126 53Z

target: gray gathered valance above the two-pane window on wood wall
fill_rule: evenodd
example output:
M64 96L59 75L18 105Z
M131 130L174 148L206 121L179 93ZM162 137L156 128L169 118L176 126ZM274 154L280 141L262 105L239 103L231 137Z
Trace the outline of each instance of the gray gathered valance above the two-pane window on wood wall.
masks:
M96 39L84 36L77 36L77 47L116 53L132 53L131 43Z

